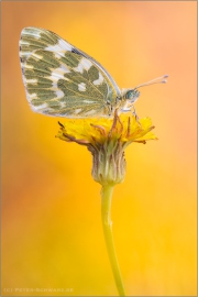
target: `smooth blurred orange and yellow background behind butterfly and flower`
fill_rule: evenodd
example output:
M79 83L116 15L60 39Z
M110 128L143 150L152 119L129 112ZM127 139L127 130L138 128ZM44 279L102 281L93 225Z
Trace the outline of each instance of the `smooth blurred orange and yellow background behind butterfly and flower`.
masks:
M25 99L25 26L48 29L88 53L120 88L169 75L167 85L142 88L135 105L158 141L127 150L113 234L128 296L196 295L196 6L1 3L2 296L117 295L91 155L55 139L59 119L33 113Z

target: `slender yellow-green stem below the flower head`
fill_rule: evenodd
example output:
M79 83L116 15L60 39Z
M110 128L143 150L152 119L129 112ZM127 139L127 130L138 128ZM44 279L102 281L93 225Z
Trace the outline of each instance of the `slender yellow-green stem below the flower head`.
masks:
M122 283L122 276L120 273L120 267L119 267L117 253L114 249L113 235L112 235L111 199L112 199L113 187L114 186L111 186L111 185L102 186L101 218L102 218L103 234L106 239L108 255L111 263L111 268L113 272L119 296L125 296L124 286Z

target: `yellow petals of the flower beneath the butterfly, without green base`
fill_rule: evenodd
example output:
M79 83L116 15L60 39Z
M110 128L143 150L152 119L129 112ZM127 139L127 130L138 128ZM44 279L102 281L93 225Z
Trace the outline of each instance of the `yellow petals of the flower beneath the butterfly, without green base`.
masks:
M119 117L116 113L113 119L67 120L65 124L59 123L59 125L57 138L84 145L97 146L118 140L125 145L131 142L156 140L156 136L151 132L154 127L150 118L138 120L134 116L121 114Z

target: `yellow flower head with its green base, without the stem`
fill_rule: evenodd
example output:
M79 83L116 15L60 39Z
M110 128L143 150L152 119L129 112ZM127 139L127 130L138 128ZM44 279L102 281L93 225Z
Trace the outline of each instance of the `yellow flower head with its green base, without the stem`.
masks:
M92 176L101 185L122 183L125 175L124 148L132 142L156 140L150 118L118 116L113 119L68 120L59 123L56 135L66 142L86 145L94 156Z

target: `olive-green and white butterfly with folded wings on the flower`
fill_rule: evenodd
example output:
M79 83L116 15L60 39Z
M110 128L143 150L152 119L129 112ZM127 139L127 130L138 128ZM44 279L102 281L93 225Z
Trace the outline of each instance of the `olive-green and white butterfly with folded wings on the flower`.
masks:
M166 82L167 77L120 90L96 59L57 34L32 26L21 32L20 62L32 110L54 117L111 117L116 109L128 112L140 87Z

